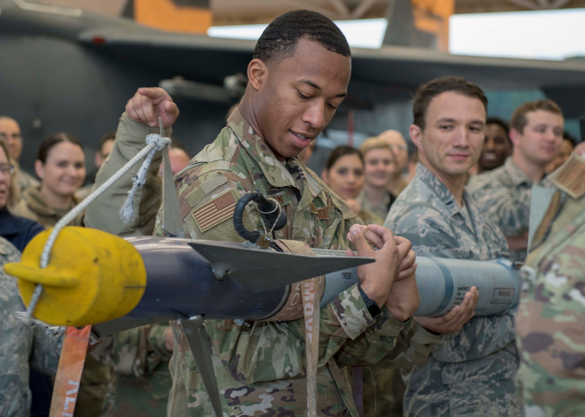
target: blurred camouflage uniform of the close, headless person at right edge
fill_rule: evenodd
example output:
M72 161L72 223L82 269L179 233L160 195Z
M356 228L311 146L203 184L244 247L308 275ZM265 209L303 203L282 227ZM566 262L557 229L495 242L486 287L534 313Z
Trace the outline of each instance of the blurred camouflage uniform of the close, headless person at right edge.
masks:
M585 158L573 154L559 171L522 268L516 329L526 417L585 415Z

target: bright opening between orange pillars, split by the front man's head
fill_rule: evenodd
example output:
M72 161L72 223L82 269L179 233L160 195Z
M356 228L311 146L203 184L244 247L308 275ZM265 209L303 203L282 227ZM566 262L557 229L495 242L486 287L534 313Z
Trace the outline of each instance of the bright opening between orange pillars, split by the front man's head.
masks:
M386 19L338 20L335 24L347 38L349 46L377 49L382 46L388 21ZM212 26L207 30L207 34L211 37L258 40L266 26L268 25Z

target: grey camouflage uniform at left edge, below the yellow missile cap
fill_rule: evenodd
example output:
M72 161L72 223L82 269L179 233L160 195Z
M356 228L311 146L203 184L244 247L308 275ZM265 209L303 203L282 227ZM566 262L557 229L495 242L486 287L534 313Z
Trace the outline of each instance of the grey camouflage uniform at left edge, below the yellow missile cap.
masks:
M16 279L4 273L4 264L18 262L20 253L0 238L0 415L30 415L29 366L45 374L55 374L61 351L61 336L49 336L39 326L17 318L25 305L18 293Z

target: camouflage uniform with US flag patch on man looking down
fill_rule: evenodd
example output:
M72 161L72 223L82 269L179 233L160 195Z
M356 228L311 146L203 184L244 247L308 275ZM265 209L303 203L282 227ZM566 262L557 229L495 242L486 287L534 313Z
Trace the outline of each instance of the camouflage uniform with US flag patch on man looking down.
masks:
M241 242L233 228L233 209L207 221L198 209L211 207L206 206L210 202L221 207L220 203L226 201L235 204L243 193L256 189L275 198L287 213L288 225L274 232L276 238L295 239L314 248L345 248L346 228L339 197L329 194L299 159L279 162L238 110L216 140L175 180L188 237ZM251 206L244 213L244 224L249 230L261 230L260 217ZM158 231L159 219L160 211ZM356 286L323 308L320 318L319 414L357 416L339 367L378 362L412 327L411 320L397 321L386 308L378 318L372 318ZM224 415L306 415L304 325L303 319L256 321L250 326L233 320L206 322ZM168 415L211 415L185 336L176 325L174 331Z

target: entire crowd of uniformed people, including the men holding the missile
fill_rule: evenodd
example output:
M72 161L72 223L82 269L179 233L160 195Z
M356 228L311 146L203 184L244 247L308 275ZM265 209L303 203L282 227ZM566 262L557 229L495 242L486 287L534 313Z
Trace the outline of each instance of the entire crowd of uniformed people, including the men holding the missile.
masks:
M215 141L190 161L184 150L177 153L183 158L173 169L181 217L190 238L241 241L229 213L209 217L201 209L227 207L260 190L287 213L287 226L275 238L376 258L376 266L360 273L360 284L320 312L319 415L585 415L585 145L563 140L559 106L525 103L508 127L486 117L479 86L460 77L434 79L414 98L409 135L418 160L408 180L402 176L408 147L397 131L370 138L359 150L334 150L319 178L305 163L346 96L350 49L343 34L319 13L285 13L260 37L247 76L246 93ZM178 115L164 90L139 89L116 133L100 144L94 187L159 131L159 117L170 136ZM35 165L40 183L18 167L18 124L0 117L0 135L4 265L18 260L26 243L91 185L80 189L84 153L70 135L43 141ZM162 235L160 162L158 154L130 223L118 212L137 167L73 224L122 237ZM528 248L534 185L555 193ZM253 207L245 213L248 229L261 228ZM410 245L417 256L525 261L521 303L474 317L479 293L472 287L447 314L412 318L418 291ZM377 311L366 307L371 300ZM41 398L47 384L50 392L50 377L42 376L54 375L62 336L19 318L25 307L3 270L0 306L0 415L28 416L29 370L32 395ZM304 325L291 317L205 323L224 415L307 415ZM352 382L354 366L367 369L363 387ZM363 405L352 395L362 390ZM42 404L37 407L33 415L43 415ZM164 413L212 413L179 326L143 326L90 347L75 416Z

